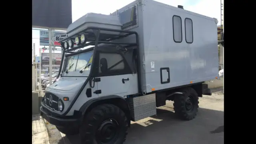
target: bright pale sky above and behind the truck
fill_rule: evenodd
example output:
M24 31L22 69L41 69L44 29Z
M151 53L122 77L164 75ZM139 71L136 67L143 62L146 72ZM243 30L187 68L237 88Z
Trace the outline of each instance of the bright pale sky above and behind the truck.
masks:
M89 12L107 14L130 4L134 0L72 0L72 22ZM155 0L170 6L182 5L185 10L218 19L220 25L220 0ZM39 56L39 30L32 30L32 45ZM45 52L48 52L46 50ZM56 51L55 53L60 53Z

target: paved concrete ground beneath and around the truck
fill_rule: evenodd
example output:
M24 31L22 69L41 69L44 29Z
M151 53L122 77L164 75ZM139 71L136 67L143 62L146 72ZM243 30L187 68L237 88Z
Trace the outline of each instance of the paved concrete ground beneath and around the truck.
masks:
M224 94L220 90L199 98L198 115L190 121L176 118L173 102L166 101L156 116L132 122L124 144L224 144ZM50 144L80 144L78 135L65 136L51 124L46 127Z

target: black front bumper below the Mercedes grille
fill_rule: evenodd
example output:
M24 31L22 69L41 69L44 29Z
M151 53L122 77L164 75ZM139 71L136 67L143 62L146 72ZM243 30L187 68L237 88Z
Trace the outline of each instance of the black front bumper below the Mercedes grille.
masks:
M53 116L46 108L40 107L40 114L42 118L47 120L50 124L58 127L78 127L80 121L77 118L57 117Z

